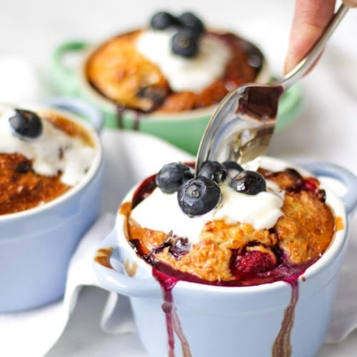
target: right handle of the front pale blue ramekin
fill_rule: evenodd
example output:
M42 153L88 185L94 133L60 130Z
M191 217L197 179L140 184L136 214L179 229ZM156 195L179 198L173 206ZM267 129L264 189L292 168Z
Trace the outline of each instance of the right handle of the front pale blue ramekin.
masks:
M346 186L346 193L341 196L341 199L348 216L353 215L357 206L357 177L351 171L343 169L341 166L324 162L305 163L301 166L315 176L336 178L336 180L343 183Z

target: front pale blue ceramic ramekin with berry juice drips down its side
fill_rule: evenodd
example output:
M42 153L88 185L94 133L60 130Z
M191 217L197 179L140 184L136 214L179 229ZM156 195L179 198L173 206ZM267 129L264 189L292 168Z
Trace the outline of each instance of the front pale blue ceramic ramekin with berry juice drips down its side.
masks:
M264 158L262 166L273 170L296 167L271 158ZM295 285L277 281L222 287L167 279L163 297L152 267L136 256L126 240L124 216L117 216L114 230L96 252L94 269L106 288L129 296L139 336L151 356L167 356L168 349L176 357L315 356L331 319L348 241L348 216L357 205L357 178L331 164L312 163L296 169L335 178L347 189L339 198L321 186L343 228ZM123 202L131 201L132 194ZM105 256L111 257L109 265Z

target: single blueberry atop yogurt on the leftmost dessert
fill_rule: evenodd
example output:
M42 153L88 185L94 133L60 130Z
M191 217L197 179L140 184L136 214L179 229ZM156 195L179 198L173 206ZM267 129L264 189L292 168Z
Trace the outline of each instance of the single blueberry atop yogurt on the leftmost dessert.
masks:
M15 109L15 115L9 119L15 134L26 139L35 139L42 133L42 123L39 116L33 111Z

